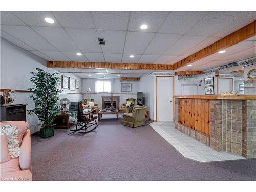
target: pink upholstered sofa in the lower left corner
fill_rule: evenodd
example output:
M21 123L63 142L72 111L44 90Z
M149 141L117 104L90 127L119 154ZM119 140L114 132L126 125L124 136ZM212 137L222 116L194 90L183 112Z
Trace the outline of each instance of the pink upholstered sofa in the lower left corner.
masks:
M31 140L29 125L25 121L2 121L1 126L16 125L18 127L18 141L20 153L18 158L9 158L6 153L7 135L1 135L1 181L32 181L31 174ZM3 160L4 157L7 157Z

